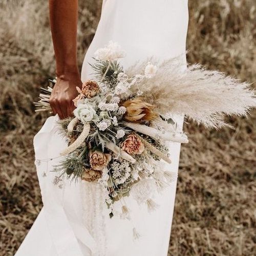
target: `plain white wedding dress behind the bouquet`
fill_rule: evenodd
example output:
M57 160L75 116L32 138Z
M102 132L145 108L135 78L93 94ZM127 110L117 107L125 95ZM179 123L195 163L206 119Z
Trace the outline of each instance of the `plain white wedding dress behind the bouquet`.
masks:
M84 58L81 78L91 77L93 54L118 42L126 52L124 68L149 57L166 59L183 55L188 23L187 0L105 0L100 22ZM178 129L183 117L175 116ZM57 132L58 117L50 117L34 138L35 164L44 207L31 227L16 256L166 256L174 211L176 183L156 196L160 205L149 214L145 205L132 198L125 204L131 220L116 216L102 201L99 185L58 179L52 172L67 142ZM169 143L172 164L165 168L178 172L180 144ZM134 240L134 227L140 238Z

